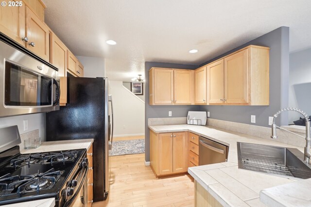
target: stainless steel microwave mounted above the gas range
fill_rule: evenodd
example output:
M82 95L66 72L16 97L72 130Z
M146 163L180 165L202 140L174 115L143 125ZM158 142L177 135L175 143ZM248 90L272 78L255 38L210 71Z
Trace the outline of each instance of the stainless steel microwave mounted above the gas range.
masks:
M0 39L0 117L59 110L58 71L39 60Z

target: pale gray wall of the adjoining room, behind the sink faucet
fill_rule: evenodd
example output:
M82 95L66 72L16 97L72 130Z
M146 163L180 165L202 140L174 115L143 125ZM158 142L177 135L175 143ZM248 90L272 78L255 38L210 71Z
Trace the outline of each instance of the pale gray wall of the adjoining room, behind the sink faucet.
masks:
M289 106L296 107L311 115L311 49L290 54ZM289 123L302 117L291 112Z

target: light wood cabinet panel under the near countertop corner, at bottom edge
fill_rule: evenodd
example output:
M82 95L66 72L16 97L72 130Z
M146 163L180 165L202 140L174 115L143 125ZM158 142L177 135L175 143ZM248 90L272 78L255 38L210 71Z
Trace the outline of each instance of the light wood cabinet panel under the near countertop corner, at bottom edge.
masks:
M194 207L223 207L223 205L194 180Z

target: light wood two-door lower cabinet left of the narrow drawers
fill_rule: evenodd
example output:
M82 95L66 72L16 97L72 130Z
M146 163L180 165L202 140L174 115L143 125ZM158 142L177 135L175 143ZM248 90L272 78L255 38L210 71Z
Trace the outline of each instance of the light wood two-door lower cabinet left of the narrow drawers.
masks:
M186 173L188 134L155 133L150 130L150 166L156 176Z

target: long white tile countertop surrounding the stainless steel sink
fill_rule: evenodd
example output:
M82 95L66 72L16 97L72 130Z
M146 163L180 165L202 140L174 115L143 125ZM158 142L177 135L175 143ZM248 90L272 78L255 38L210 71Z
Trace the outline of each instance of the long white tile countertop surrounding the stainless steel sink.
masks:
M309 207L311 206L310 200L306 201L298 196L308 195L308 188L311 189L311 179L296 182L297 180L294 179L238 168L238 141L292 147L299 149L301 152L303 152L303 148L209 126L178 124L153 125L149 126L149 128L155 133L190 131L229 146L228 162L188 168L188 173L225 207L264 207L266 205L287 207L291 206L288 202L293 202L293 199L295 206L306 206L306 204ZM291 185L292 191L288 191L287 185ZM301 185L304 185L305 188L301 188ZM271 193L274 191L273 187L277 188L275 191L280 193L277 196L278 199ZM282 200L282 203L278 202L280 200Z

